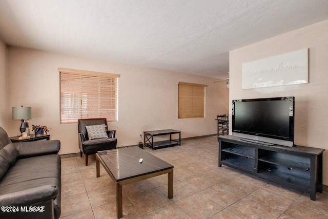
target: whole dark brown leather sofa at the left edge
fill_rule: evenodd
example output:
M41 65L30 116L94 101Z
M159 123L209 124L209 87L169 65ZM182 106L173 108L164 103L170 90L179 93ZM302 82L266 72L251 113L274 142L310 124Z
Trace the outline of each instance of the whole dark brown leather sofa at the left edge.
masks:
M11 143L0 127L0 218L59 218L59 149L58 140Z

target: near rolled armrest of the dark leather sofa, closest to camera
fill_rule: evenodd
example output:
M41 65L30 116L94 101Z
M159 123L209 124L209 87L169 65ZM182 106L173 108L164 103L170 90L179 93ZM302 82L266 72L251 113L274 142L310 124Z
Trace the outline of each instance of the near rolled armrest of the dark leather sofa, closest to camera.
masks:
M0 206L25 206L53 200L59 188L53 185L38 186L23 191L0 195Z

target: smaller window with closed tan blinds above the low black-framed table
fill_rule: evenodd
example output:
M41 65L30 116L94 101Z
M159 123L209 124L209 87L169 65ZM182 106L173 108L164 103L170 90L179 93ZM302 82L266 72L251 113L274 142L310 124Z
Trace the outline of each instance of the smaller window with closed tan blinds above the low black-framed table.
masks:
M205 87L179 82L179 118L205 117Z

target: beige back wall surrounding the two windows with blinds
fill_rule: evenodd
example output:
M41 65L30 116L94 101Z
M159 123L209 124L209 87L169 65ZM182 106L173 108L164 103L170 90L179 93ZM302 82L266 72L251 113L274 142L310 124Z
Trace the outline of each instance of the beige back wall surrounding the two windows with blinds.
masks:
M61 141L60 154L79 152L77 124L59 124L57 68L120 74L118 81L118 146L136 145L142 131L181 130L181 137L216 133L216 115L228 112L228 89L214 78L110 63L50 52L8 47L8 110L32 107L33 125L51 127L51 139ZM178 82L207 84L206 118L178 120ZM224 97L224 98L223 98ZM19 121L8 113L9 135L19 133Z

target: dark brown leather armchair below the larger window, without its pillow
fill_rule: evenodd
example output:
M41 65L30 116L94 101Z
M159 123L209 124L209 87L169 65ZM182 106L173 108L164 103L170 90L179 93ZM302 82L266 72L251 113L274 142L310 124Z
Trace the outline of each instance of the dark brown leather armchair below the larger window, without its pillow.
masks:
M86 126L105 125L107 136L106 138L98 138L89 140ZM108 130L106 118L86 118L77 121L78 126L78 147L80 156L86 155L86 166L88 166L88 157L90 154L95 154L97 151L116 149L117 140L115 138L116 130Z

